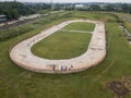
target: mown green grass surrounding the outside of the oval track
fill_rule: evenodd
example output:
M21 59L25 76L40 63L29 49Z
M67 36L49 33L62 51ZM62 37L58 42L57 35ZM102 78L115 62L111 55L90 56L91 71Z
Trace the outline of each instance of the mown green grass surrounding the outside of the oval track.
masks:
M0 98L114 98L116 94L107 83L116 78L131 77L131 47L123 32L110 14L72 12L71 19L100 20L108 32L108 54L96 68L67 75L38 74L26 71L9 58L9 49L19 38L0 42ZM70 19L70 16L68 16ZM63 21L66 19L62 19ZM59 22L44 25L48 27ZM39 33L41 28L21 35L21 40ZM131 98L124 94L122 98Z

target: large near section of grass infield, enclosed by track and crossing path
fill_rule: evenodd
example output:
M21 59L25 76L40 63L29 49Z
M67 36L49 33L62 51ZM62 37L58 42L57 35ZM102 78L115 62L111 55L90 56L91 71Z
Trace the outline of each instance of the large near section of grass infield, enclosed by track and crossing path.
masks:
M34 54L47 59L70 59L84 53L91 40L88 33L58 32L33 46Z

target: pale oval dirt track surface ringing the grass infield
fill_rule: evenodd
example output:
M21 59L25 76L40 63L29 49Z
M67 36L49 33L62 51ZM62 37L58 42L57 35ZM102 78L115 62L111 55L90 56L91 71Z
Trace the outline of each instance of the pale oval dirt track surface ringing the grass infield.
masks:
M96 24L93 32L87 51L80 57L67 60L48 60L36 57L32 53L31 48L36 42L43 40L49 35L60 30L64 26L74 22L88 22ZM88 20L67 21L49 29L41 30L40 34L23 40L15 45L10 51L11 60L17 65L34 72L39 73L73 73L86 70L97 65L105 59L106 56L106 36L105 25L102 22Z

